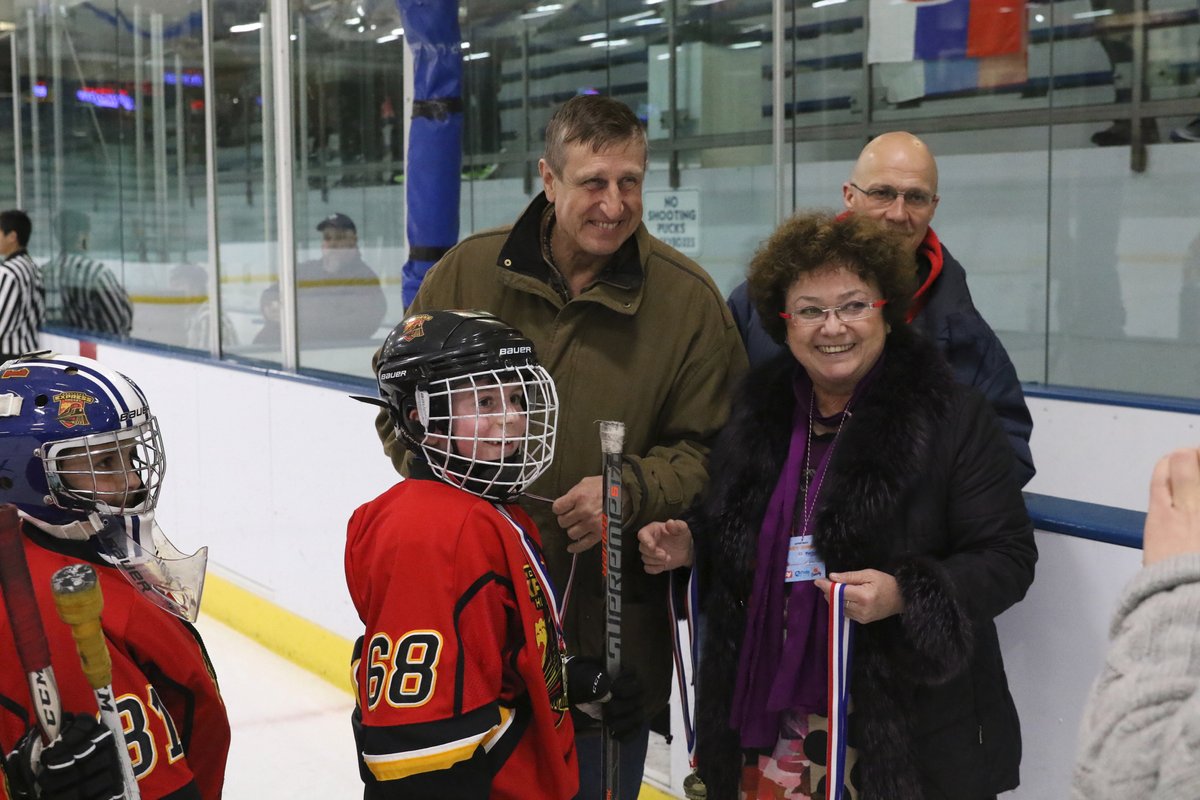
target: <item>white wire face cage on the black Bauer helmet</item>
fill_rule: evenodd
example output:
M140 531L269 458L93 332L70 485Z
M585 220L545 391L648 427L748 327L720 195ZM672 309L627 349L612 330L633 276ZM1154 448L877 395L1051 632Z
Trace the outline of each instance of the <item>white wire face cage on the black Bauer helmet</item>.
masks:
M434 475L481 498L517 498L554 458L558 392L544 367L432 381L416 409Z

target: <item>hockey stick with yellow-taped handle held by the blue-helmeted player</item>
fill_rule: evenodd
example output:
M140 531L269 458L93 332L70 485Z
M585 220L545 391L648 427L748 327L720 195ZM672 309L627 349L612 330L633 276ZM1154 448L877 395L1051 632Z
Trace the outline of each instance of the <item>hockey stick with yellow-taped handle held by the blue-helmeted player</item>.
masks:
M100 626L100 612L104 608L104 595L100 590L96 571L88 564L65 566L50 577L50 591L59 616L71 626L71 634L79 651L79 663L88 685L96 694L100 722L113 733L116 759L121 764L126 800L138 800L138 778L133 775L130 748L125 744L121 716L116 712L113 697L113 658L108 655L104 631Z

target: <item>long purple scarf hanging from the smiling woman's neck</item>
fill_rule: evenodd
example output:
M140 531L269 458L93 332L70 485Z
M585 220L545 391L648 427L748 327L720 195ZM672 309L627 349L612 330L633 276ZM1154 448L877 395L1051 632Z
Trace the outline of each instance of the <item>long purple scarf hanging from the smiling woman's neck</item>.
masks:
M858 381L847 409L875 378L882 361L880 357ZM740 732L742 746L746 748L773 747L779 739L780 715L784 711L824 715L829 708L826 652L829 640L828 608L811 581L785 583L784 571L788 539L793 530L800 528L804 517L808 517L808 524L803 533L812 533L816 516L812 506L818 500L816 495L834 443L812 441L808 461L815 474L810 491L802 492L812 383L799 366L792 387L796 393L792 439L758 531L757 566L730 714L730 724ZM817 419L835 426L840 415ZM805 503L808 513L798 515L796 500L803 494L810 495Z

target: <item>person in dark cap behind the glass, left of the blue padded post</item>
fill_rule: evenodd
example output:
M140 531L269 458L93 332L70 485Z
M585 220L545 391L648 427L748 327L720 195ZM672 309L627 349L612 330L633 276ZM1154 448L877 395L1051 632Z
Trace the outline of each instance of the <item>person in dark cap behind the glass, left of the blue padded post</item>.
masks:
M344 213L319 223L320 258L296 265L296 330L301 347L322 347L376 338L388 301L379 276L359 253L359 233ZM254 344L280 342L280 285L263 290L265 320Z

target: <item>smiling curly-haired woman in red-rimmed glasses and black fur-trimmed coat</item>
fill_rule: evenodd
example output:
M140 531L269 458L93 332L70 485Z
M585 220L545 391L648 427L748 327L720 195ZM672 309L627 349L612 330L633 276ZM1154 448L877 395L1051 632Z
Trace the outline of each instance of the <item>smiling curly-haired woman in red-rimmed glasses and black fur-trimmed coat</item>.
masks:
M805 579L797 557L846 584L857 624L858 796L984 800L1018 786L994 619L1033 581L1033 525L995 413L905 323L911 247L863 215L775 231L749 284L786 357L736 392L689 521L638 533L652 573L690 564L695 534L709 798L826 796L829 581Z

